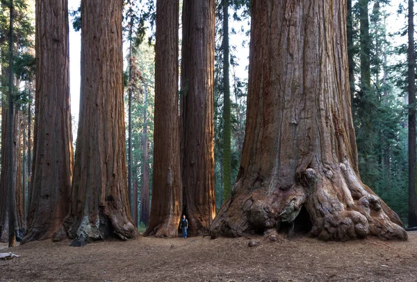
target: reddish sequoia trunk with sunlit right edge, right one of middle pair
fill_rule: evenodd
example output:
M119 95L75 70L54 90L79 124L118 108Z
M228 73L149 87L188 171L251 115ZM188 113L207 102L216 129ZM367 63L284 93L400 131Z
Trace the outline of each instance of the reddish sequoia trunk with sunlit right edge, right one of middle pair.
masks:
M207 233L215 217L214 0L183 2L181 158L190 234Z

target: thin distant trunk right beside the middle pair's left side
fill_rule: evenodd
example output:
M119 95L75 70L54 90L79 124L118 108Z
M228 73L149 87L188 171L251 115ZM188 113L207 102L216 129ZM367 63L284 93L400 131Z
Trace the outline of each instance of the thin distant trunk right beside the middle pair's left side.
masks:
M142 134L142 191L140 192L140 221L149 223L149 164L148 164L148 136L147 136L147 85L145 84L145 110L143 112L143 134Z

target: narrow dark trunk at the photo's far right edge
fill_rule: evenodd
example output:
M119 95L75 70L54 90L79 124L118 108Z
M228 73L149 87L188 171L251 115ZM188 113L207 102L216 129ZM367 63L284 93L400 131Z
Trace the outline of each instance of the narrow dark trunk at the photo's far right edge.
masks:
M417 226L416 199L416 58L414 54L414 1L409 0L409 46L408 46L408 82L409 82L409 216L408 226Z

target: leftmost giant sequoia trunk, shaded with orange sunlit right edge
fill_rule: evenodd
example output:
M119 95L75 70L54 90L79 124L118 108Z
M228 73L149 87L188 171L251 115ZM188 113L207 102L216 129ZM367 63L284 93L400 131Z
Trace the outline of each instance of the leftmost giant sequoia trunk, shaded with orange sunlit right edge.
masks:
M23 243L65 235L74 165L68 28L67 0L37 1L32 202Z

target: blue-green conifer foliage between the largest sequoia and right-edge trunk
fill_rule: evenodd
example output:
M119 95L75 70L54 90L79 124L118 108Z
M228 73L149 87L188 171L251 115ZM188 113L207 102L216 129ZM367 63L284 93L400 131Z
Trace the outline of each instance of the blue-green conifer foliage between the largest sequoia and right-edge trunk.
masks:
M406 111L402 96L407 91L407 82L404 81L407 75L403 74L407 73L407 64L397 60L390 65L389 59L396 56L398 50L406 53L407 46L393 46L391 43L393 38L386 31L386 3L385 0L371 2L369 37L362 42L369 46L368 49L359 49L359 1L352 9L354 46L350 51L356 61L366 55L363 52L368 52L370 58L369 74L361 72L364 76L370 75L370 83L363 87L363 81L368 80L365 77L355 85L352 112L361 179L405 221L408 164ZM358 76L359 68L354 71Z

